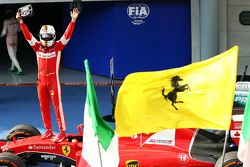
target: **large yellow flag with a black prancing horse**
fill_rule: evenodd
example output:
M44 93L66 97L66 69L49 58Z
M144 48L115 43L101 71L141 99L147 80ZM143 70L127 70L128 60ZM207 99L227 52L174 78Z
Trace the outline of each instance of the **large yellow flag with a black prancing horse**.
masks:
M119 137L168 128L230 127L238 46L181 68L128 75L115 108Z

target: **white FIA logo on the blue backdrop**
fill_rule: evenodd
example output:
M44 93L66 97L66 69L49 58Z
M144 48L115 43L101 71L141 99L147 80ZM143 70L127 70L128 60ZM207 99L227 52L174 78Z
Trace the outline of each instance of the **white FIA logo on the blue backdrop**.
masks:
M133 3L130 4L127 8L127 14L131 19L133 19L132 23L134 25L140 25L145 23L143 19L148 17L149 13L150 9L148 5L144 3L139 3L139 4Z

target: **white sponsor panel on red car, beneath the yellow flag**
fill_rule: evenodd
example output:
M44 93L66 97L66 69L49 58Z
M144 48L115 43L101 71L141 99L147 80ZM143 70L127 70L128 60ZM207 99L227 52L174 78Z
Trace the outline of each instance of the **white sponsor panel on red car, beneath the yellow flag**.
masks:
M150 136L144 144L175 145L175 129L166 129Z

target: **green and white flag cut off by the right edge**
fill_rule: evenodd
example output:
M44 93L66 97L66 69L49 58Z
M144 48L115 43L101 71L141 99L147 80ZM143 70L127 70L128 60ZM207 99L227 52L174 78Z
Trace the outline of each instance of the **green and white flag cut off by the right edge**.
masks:
M250 167L250 95L244 110L238 158L243 162L243 167Z

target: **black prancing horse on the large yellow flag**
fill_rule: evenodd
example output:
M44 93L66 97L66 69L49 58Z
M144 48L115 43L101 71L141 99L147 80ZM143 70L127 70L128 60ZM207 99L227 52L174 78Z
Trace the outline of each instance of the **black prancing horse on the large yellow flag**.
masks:
M175 103L183 103L183 101L177 101L177 93L184 92L185 90L189 89L188 84L180 85L179 81L183 81L179 76L174 76L171 79L171 85L174 88L171 92L165 95L165 88L162 89L161 93L165 100L169 99L172 102L172 106L178 110L178 108L174 105Z

